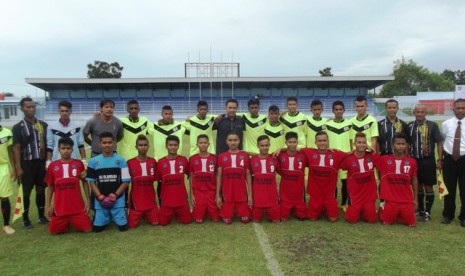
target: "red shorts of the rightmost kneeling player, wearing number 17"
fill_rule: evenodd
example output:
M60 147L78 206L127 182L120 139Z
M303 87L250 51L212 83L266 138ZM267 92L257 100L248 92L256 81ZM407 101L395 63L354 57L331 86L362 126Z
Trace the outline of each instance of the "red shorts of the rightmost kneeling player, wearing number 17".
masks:
M380 208L379 219L384 224L393 224L399 221L410 227L414 227L415 208L412 203L397 203L384 201L384 207Z

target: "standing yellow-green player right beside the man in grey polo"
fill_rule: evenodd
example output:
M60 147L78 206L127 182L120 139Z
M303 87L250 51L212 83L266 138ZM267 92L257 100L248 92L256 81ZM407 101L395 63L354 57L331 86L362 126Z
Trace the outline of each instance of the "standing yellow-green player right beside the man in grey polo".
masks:
M126 104L128 116L120 119L123 124L123 139L118 143L119 154L124 160L129 160L138 155L136 144L137 137L152 132L153 124L149 119L139 116L140 107L137 100L130 100Z

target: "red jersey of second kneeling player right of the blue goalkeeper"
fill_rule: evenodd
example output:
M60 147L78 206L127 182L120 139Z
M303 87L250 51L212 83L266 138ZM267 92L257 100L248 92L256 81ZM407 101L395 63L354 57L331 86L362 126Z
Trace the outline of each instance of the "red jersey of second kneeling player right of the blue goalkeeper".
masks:
M187 204L187 191L184 175L189 175L189 162L186 157L175 159L163 157L157 163L157 178L161 180L162 207L181 207Z

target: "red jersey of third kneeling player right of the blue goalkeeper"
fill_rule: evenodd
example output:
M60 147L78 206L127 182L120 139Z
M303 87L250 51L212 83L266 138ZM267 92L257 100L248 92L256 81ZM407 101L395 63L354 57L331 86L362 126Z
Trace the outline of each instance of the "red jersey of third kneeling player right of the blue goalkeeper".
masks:
M189 158L192 188L201 191L216 190L216 155L201 157L199 154Z

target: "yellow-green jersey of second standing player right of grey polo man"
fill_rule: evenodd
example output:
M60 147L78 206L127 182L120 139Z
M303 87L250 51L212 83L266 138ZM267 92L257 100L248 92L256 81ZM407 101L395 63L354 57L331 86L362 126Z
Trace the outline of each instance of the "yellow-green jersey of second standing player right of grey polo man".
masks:
M177 136L179 138L179 149L178 154L182 154L182 138L184 135L185 128L182 123L173 121L171 124L162 124L158 122L153 124L153 149L154 149L154 158L155 160L160 160L163 157L168 155L166 150L166 137L170 135Z

